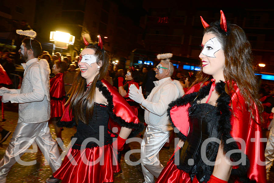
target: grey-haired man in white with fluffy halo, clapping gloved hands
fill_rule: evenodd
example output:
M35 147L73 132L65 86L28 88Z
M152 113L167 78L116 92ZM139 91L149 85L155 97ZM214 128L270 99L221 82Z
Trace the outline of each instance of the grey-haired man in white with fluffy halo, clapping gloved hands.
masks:
M154 81L155 87L147 99L142 95L142 87L137 89L135 85L131 85L129 88L129 97L145 109L147 127L141 144L141 166L146 183L153 183L154 176L157 178L163 170L157 155L172 130L167 118L168 104L184 94L170 78L174 71L170 57L172 54L157 55L161 62L155 68L155 77L159 81Z

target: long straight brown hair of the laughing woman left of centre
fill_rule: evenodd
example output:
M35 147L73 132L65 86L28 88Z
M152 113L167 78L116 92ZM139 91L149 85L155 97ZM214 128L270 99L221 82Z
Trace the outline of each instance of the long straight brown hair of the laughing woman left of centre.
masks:
M78 74L77 79L72 84L72 92L68 98L69 110L72 111L76 123L81 120L83 123L88 124L88 119L93 115L94 103L96 101L96 82L102 80L107 74L109 65L108 54L101 50L97 44L89 44L86 48L95 51L96 63L100 66L99 73L95 76L92 84L86 89L86 79ZM86 106L86 115L84 115L84 107Z

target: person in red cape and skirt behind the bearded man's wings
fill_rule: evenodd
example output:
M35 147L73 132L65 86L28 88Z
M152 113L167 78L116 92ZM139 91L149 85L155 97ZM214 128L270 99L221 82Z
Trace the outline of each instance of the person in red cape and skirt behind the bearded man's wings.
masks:
M51 96L51 121L55 128L57 138L61 138L61 128L56 123L61 119L65 110L65 85L64 85L64 72L67 69L67 63L63 60L54 60L52 66L52 73L54 78L50 79L50 96Z

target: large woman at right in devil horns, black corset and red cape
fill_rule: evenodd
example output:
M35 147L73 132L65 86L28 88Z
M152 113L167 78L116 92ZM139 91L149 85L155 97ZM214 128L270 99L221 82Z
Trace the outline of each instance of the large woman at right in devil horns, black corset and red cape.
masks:
M265 183L262 107L250 43L243 29L227 24L222 11L219 22L201 20L202 70L168 109L181 139L176 149L181 149L157 183Z

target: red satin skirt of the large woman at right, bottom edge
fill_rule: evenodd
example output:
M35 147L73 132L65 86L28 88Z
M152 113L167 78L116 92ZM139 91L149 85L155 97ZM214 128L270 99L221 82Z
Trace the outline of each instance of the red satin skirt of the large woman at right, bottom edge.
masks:
M193 181L188 173L177 168L174 164L174 160L167 162L167 166L164 167L156 183L199 183L197 178L194 177Z

